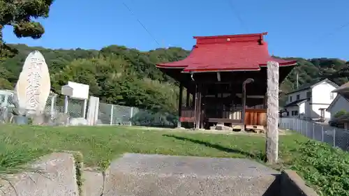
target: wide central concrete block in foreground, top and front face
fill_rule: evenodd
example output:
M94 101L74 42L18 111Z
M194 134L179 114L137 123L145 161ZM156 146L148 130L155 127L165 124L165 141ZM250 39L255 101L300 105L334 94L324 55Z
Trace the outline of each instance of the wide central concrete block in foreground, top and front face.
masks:
M103 194L257 196L267 193L276 174L274 169L241 158L127 153L107 169Z

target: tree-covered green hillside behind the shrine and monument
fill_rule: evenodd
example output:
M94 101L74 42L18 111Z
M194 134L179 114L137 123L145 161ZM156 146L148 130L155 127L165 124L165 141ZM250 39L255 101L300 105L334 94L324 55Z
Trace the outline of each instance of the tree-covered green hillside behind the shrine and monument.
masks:
M156 49L148 52L110 45L101 50L50 50L27 45L9 45L17 55L0 62L0 89L13 89L29 52L39 50L50 69L52 90L59 93L66 82L90 85L92 96L101 102L129 105L149 110L175 112L178 84L161 73L158 62L184 59L189 51L179 47ZM284 93L295 89L296 75L299 85L330 77L336 84L348 82L349 66L340 59L301 59L281 84ZM184 93L185 94L185 93ZM281 97L281 105L284 98Z

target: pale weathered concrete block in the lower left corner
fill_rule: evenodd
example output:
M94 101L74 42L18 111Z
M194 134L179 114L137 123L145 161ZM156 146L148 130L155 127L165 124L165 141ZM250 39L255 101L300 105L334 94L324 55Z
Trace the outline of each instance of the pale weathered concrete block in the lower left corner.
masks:
M40 158L31 167L38 172L23 172L6 176L1 181L3 196L76 196L79 194L75 177L75 160L70 153L52 153Z

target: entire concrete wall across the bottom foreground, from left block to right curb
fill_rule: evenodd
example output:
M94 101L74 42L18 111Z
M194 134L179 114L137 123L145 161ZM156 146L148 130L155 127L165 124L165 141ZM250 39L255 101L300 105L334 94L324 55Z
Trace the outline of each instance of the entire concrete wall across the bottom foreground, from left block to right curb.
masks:
M318 196L295 171L280 174L246 159L126 153L106 173L82 172L81 160L74 152L44 156L29 165L36 172L0 181L0 196Z

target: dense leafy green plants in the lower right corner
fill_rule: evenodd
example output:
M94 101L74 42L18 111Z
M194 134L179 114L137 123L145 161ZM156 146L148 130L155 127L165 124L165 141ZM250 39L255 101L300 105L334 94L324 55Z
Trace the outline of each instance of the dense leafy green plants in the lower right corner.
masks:
M349 195L349 154L322 142L299 144L293 159L295 169L317 188L320 195Z

